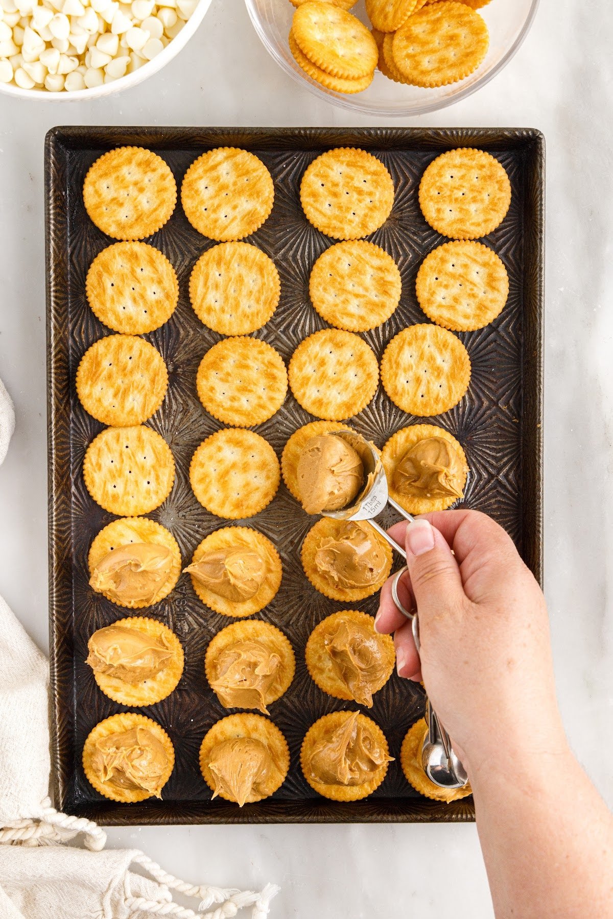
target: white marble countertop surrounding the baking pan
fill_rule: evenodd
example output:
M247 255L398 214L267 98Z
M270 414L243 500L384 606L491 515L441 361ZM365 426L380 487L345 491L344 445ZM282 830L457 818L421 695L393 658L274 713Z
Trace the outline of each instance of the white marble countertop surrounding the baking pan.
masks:
M512 0L496 0L512 2ZM545 590L562 715L613 802L613 6L541 0L492 83L413 125L513 125L547 141ZM244 79L246 63L250 79ZM0 469L0 594L47 647L42 144L58 123L377 124L282 74L242 0L214 0L175 61L120 96L62 106L0 96L0 376L17 430ZM607 755L606 755L607 754ZM561 801L563 807L563 801ZM492 915L472 825L110 830L193 882L282 892L271 916ZM444 882L441 883L441 876Z

